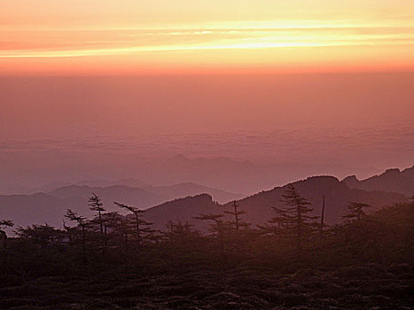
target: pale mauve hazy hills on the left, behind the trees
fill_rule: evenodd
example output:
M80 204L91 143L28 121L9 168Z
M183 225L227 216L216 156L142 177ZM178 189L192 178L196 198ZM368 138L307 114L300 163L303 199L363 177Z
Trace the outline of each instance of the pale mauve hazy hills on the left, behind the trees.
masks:
M113 201L145 209L169 200L195 196L201 193L207 193L221 203L244 196L243 194L211 189L194 183L171 186L146 185L144 188L122 185L107 187L67 185L47 193L0 195L0 219L13 219L20 226L32 223L42 224L44 222L61 226L66 209L73 209L85 216L92 215L88 207L88 199L92 192L102 198L107 211L120 211L119 208L113 205Z

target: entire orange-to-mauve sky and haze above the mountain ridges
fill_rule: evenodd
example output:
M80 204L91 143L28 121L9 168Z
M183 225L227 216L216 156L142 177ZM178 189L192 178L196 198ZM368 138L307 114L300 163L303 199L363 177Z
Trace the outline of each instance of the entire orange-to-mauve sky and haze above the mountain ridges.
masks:
M414 164L413 116L412 0L0 1L3 182L177 153L369 176Z

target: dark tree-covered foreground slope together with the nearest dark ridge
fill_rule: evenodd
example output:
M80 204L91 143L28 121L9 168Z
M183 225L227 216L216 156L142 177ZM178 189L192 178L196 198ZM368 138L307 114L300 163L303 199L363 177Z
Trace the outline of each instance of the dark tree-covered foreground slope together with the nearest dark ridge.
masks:
M316 177L228 205L206 194L146 211L115 202L127 215L92 194L91 219L66 211L72 227L19 227L7 247L0 230L0 308L409 309L414 200L386 194ZM270 216L254 214L267 205Z

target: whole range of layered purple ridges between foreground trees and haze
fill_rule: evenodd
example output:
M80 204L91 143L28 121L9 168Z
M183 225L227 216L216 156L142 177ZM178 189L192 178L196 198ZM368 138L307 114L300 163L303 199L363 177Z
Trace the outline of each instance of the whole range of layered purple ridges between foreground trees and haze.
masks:
M413 168L402 172L387 170L379 176L363 181L356 180L356 182L353 181L354 178L349 177L340 182L333 176L313 176L293 182L293 185L301 196L311 202L316 215L321 213L324 199L325 222L333 224L341 220L341 215L351 201L373 207L408 201L408 196L391 190L397 191L402 188L404 193L409 193L412 171ZM399 181L394 183L393 180ZM281 200L286 186L241 198L241 194L210 189L194 183L172 186L147 185L143 188L121 185L108 187L70 185L51 190L46 194L0 196L0 218L11 219L20 226L44 222L61 226L67 208L91 216L88 198L91 192L95 192L102 198L107 211L120 211L113 205L113 201L135 205L142 209L147 208L145 219L152 221L155 229L165 229L168 221L188 221L203 229L207 224L195 220L194 217L199 216L200 213L223 213L224 210L231 210L231 203L235 200L239 209L246 211L243 220L255 225L262 224L274 216L272 207L284 206ZM356 186L365 186L367 190L357 189ZM222 204L216 202L217 200ZM223 204L223 202L227 203ZM150 207L151 205L155 206Z

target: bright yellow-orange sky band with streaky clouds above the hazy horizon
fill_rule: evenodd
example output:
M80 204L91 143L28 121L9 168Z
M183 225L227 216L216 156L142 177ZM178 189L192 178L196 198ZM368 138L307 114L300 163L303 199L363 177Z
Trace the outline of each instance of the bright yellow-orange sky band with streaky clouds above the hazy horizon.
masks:
M0 74L410 71L414 2L13 0Z

